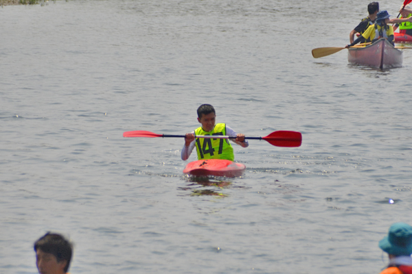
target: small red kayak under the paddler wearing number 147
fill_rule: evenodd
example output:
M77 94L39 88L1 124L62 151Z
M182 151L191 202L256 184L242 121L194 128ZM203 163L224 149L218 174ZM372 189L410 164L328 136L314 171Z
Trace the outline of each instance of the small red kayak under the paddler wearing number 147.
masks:
M208 159L190 162L183 169L183 173L193 176L239 177L244 169L244 164L230 160Z

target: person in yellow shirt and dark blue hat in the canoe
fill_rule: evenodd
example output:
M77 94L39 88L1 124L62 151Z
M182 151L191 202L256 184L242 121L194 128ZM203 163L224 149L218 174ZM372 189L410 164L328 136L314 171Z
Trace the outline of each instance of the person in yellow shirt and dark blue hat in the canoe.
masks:
M380 38L387 39L393 45L393 27L388 25L390 23L389 16L390 15L386 10L381 10L378 12L374 25L370 25L361 36L346 47L352 47L358 44L358 42L376 42Z

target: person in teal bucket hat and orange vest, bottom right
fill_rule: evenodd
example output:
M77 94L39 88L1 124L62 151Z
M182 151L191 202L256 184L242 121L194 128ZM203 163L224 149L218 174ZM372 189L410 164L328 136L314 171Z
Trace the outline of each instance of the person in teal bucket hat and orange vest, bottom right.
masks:
M389 265L380 274L412 273L412 227L407 223L394 223L388 236L379 242L379 247L389 256Z

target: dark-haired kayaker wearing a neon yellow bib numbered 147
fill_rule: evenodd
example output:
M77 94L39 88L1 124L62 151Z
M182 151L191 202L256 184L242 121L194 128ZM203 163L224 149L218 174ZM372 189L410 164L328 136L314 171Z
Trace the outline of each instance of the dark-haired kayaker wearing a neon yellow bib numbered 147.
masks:
M236 132L224 123L216 123L216 111L212 105L201 105L198 110L198 122L201 127L198 127L194 132L185 135L185 145L183 146L181 158L187 160L196 147L198 160L203 159L225 159L233 161L235 155L233 147L231 147L228 139L209 139L195 138L195 135L223 135L236 136L236 139L230 139L241 147L248 147L249 142L244 139L244 134L236 134Z

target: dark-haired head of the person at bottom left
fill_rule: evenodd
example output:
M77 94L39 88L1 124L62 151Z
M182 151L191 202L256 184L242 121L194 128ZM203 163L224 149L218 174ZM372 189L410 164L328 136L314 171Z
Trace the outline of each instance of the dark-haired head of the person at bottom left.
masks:
M60 234L47 232L34 242L36 265L40 274L64 274L69 271L73 245Z

